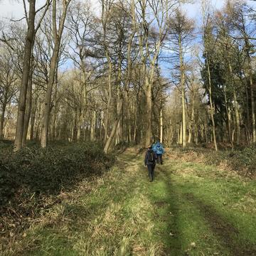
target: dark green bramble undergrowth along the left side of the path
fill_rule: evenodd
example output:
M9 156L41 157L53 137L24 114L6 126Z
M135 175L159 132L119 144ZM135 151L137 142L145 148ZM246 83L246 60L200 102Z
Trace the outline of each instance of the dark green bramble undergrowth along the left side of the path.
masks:
M0 150L0 250L10 246L10 233L18 238L42 211L60 203L60 193L77 188L84 178L102 176L113 164L112 156L89 143L34 145L15 154Z

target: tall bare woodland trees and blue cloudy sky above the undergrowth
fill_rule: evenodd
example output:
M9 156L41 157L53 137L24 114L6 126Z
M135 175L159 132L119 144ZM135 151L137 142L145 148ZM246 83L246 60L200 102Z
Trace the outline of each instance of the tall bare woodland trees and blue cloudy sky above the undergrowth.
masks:
M4 4L0 134L15 151L256 142L253 1L38 2L28 53L31 6Z

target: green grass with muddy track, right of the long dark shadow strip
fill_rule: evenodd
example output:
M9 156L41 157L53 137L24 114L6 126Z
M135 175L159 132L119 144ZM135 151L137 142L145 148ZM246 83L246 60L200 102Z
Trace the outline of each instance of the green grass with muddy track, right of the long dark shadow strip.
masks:
M255 181L223 174L213 166L178 161L168 161L161 170L161 179L166 178L169 184L172 194L169 198L178 215L173 226L182 252L189 255L256 252ZM179 250L170 255L181 255Z

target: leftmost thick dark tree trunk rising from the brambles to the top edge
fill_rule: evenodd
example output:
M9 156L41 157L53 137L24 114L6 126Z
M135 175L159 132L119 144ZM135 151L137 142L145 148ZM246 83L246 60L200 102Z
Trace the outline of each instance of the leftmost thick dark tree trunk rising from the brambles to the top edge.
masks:
M18 100L18 117L14 140L14 151L21 149L23 138L24 117L26 112L26 96L28 90L28 77L31 68L31 53L35 33L36 0L29 1L28 31L23 54L21 91Z

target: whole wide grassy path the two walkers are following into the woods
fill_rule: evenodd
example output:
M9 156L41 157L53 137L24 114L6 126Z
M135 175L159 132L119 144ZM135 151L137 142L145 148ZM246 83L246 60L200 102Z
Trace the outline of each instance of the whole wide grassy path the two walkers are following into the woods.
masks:
M126 151L2 255L256 255L255 185L168 159L149 183L143 156Z

